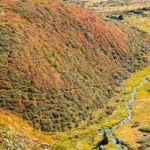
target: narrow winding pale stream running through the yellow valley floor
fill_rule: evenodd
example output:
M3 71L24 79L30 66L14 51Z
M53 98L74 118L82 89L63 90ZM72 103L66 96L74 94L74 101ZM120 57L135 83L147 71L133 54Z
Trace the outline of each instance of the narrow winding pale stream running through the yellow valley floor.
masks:
M139 84L137 84L136 86L134 86L134 90L133 90L133 92L130 94L130 95L131 95L130 100L127 101L127 102L125 102L125 107L126 107L126 109L128 110L128 116L125 117L125 118L124 118L122 121L120 121L118 124L113 125L113 126L111 126L110 128L107 128L107 129L105 129L105 130L104 130L103 128L99 129L99 133L100 133L101 135L103 135L103 136L104 136L104 135L107 135L107 137L108 137L109 139L111 139L112 142L113 142L120 150L129 150L130 148L127 147L125 144L123 144L119 139L117 139L117 138L114 136L113 131L116 130L119 126L124 125L125 123L127 123L127 122L131 119L133 113L132 113L132 109L130 108L130 105L131 105L131 104L133 103L133 101L135 100L135 94L136 94L138 88L148 81L148 80L147 80L147 77L149 77L149 76L150 76L150 74L146 75L146 76L144 77L143 81L141 81ZM102 149L103 149L103 145L104 145L104 144L101 144L101 143L104 143L104 142L100 142L99 144L97 144L97 146L96 146L96 149L97 149L97 150L102 150Z

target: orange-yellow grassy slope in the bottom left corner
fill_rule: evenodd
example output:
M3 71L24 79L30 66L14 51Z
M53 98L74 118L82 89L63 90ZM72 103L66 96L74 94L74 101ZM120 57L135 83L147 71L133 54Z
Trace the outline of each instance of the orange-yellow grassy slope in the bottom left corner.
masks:
M16 115L0 110L0 149L42 149L42 144L53 144L52 138L33 129Z

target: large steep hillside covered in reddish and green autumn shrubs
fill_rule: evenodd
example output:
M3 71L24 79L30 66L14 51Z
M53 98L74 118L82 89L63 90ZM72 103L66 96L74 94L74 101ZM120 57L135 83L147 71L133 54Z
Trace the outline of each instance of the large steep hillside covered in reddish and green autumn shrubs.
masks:
M5 0L0 17L0 107L43 131L78 126L148 63L141 33L60 0Z

